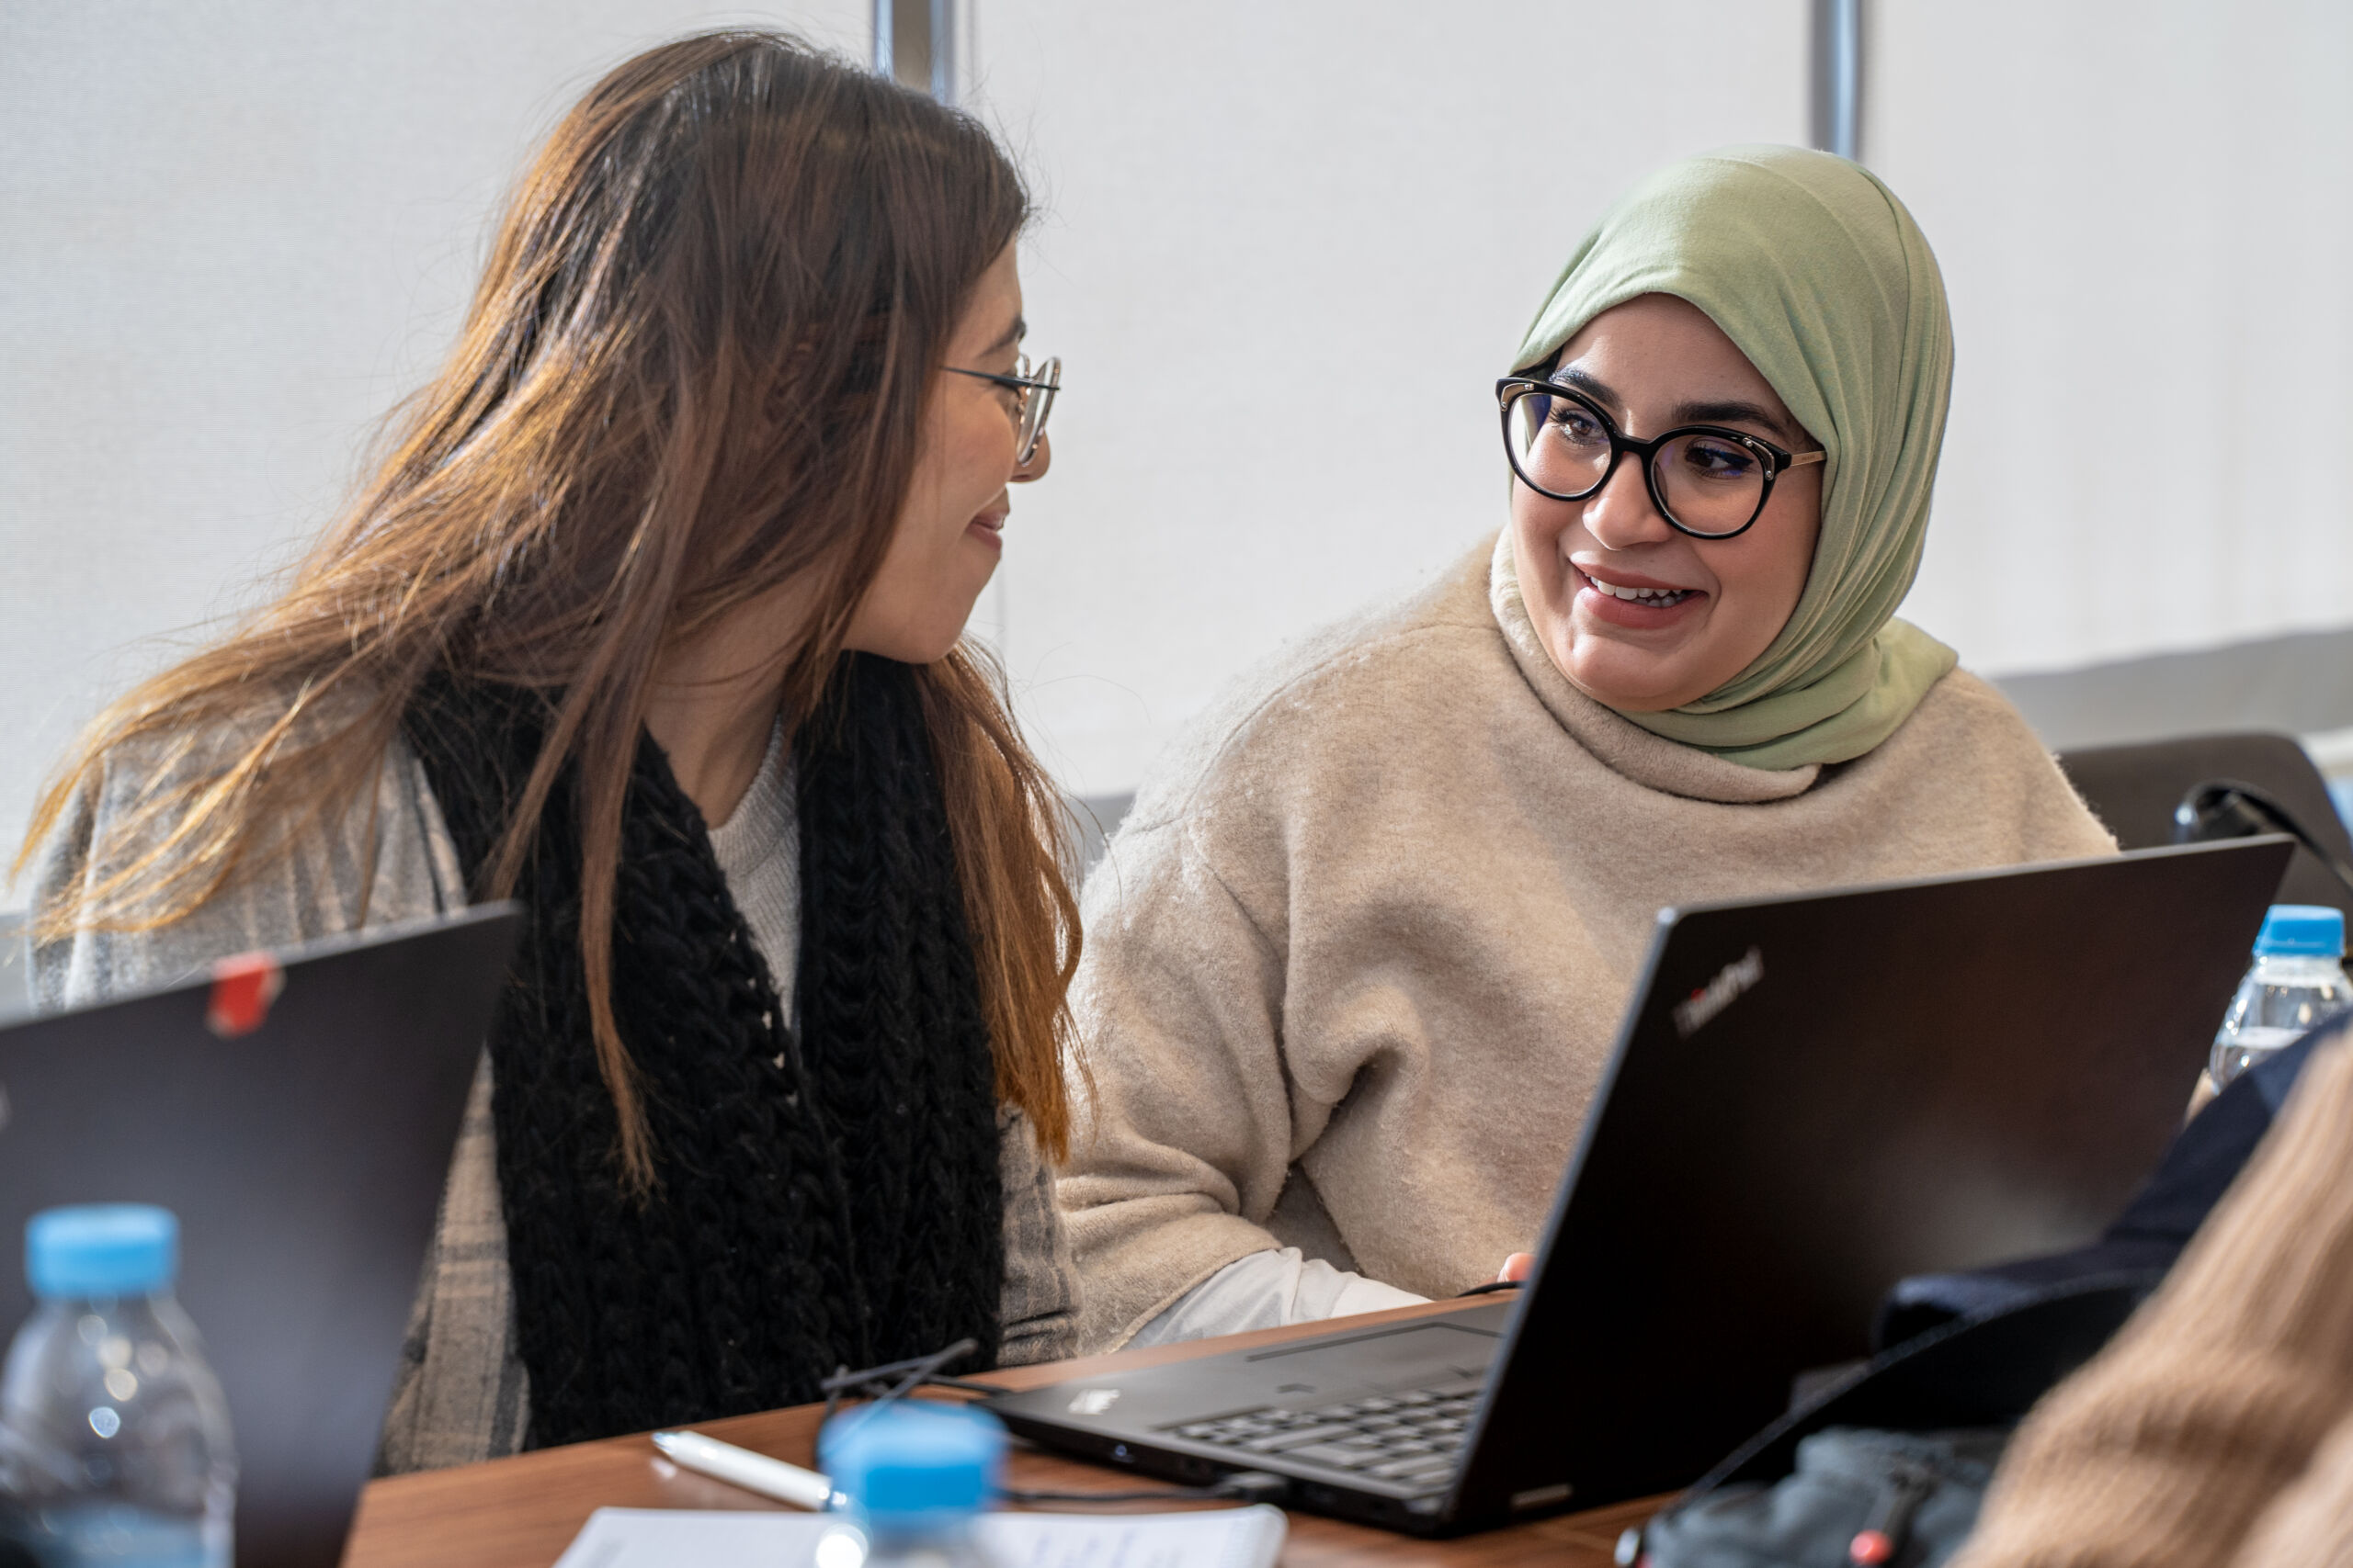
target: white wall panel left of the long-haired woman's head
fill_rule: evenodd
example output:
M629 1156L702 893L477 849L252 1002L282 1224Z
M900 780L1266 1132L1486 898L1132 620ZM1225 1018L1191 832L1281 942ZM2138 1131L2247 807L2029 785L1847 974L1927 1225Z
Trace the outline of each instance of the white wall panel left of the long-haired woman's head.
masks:
M595 75L868 0L0 5L0 865L73 729L315 531ZM21 893L16 896L21 898ZM16 898L0 889L0 907Z

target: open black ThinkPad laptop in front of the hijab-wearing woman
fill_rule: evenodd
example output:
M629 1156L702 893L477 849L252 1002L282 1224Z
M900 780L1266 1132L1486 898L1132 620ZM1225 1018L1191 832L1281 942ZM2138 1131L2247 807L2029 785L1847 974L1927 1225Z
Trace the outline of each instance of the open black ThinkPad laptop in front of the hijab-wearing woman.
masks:
M1689 1483L1906 1274L2092 1241L2181 1126L2289 842L1664 910L1539 1274L1080 1378L1040 1443L1440 1535Z

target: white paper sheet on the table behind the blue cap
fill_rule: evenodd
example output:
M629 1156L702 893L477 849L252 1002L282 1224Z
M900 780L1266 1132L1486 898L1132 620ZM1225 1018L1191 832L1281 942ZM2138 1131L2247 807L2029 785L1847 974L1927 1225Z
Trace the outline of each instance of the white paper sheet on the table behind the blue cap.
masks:
M826 1514L598 1509L555 1568L805 1568ZM995 1568L1273 1568L1282 1509L988 1514Z

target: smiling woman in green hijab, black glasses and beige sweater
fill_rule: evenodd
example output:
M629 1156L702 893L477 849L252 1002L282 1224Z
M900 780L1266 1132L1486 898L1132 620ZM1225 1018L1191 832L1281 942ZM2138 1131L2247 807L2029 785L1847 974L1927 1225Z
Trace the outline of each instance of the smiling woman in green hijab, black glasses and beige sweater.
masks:
M2113 849L1892 618L1951 362L1852 162L1732 148L1600 221L1497 386L1508 527L1245 679L1087 886L1089 1347L1492 1276L1661 905Z

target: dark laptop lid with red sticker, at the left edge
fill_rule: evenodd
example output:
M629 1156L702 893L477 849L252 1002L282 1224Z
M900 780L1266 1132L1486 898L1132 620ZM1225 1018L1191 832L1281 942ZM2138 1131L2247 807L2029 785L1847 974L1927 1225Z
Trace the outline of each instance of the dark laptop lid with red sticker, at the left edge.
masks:
M515 929L485 905L0 1030L0 1335L28 1215L172 1208L240 1568L344 1554Z

